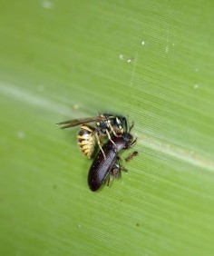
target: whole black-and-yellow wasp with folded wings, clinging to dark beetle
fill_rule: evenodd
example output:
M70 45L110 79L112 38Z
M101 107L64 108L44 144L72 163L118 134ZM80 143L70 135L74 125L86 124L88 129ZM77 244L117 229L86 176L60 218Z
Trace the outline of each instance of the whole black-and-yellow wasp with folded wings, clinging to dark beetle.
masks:
M95 123L95 127L87 123ZM88 158L92 157L96 144L95 141L105 157L100 142L101 134L107 135L109 140L114 143L111 133L113 133L114 136L118 136L122 133L126 133L128 130L126 118L122 115L113 115L111 113L103 113L95 117L68 120L57 124L63 125L61 129L82 125L77 135L78 145L81 152Z

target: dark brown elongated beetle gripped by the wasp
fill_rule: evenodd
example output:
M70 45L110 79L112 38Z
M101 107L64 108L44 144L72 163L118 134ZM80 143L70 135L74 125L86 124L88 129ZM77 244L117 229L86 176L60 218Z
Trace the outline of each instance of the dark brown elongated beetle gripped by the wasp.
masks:
M88 184L92 192L97 191L107 177L109 177L107 185L110 182L111 175L115 178L120 177L122 168L118 153L122 149L130 148L136 141L137 138L133 140L131 133L127 132L122 133L120 136L113 135L113 143L108 141L102 146L106 157L104 158L102 151L100 151L93 160L88 174Z

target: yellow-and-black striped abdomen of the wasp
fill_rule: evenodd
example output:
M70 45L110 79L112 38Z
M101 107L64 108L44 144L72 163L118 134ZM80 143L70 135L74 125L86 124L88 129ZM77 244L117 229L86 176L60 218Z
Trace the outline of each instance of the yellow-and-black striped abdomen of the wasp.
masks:
M92 153L94 152L95 148L93 131L94 128L92 126L83 124L77 135L80 150L88 158L92 157Z

